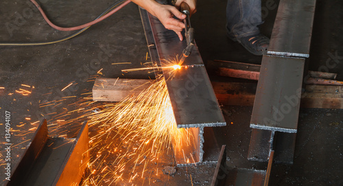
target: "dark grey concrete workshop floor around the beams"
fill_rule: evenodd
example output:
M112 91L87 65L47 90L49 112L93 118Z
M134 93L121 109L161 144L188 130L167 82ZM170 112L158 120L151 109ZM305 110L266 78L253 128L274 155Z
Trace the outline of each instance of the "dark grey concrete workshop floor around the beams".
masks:
M56 25L67 27L91 21L114 0L40 2ZM341 79L342 8L343 2L339 0L317 1L311 54L307 60L309 69L327 69L338 73ZM204 62L232 60L261 63L261 56L253 56L239 44L226 39L225 10L224 0L198 1L198 12L192 16L192 25L196 29L196 42ZM276 10L277 8L268 10L263 16L265 23L261 30L267 36L272 32ZM49 41L71 33L49 27L29 1L3 0L0 15L0 43ZM82 93L91 91L93 81L88 81L88 78L94 78L94 75L106 78L154 78L152 73L121 72L121 69L142 67L141 63L146 62L146 54L147 46L139 11L133 3L79 36L62 43L36 47L0 47L0 86L5 87L0 89L0 128L5 128L5 111L10 111L13 128L11 140L16 145L12 148L12 165L17 163L23 148L28 145L27 140L32 138L34 127L38 126L35 121L45 117L50 124L54 122L54 115L63 108L69 109L69 104L84 97ZM332 63L332 56L336 56L335 63ZM118 62L131 64L111 65ZM97 74L99 69L102 69L103 75ZM211 74L211 78L220 77ZM61 91L71 82L72 86ZM16 93L16 90L27 89L21 84L34 86L32 93L26 96ZM62 100L62 104L40 107L40 104L54 100ZM222 143L227 144L229 167L263 168L265 165L246 160L252 107L225 106L223 110L231 113L226 115L226 121L234 124L215 128L215 132L218 137L222 137ZM76 130L78 126L80 125L75 124L75 128L70 130ZM343 185L342 126L342 110L301 109L294 165L274 164L270 185ZM3 130L0 130L0 163L4 162L5 155L2 145L5 137ZM32 132L18 135L25 131ZM54 131L52 132L54 135ZM1 181L4 179L2 167L1 165ZM213 170L213 166L179 168L175 177L165 176L161 178L161 182L154 184L209 185ZM189 175L192 175L192 181Z

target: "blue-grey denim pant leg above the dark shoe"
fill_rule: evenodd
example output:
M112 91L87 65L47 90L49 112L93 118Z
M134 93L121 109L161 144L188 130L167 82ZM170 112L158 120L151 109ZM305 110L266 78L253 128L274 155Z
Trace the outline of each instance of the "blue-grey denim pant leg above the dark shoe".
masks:
M259 34L261 25L261 0L228 0L226 6L226 30L239 39Z

